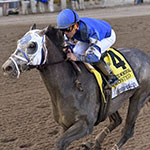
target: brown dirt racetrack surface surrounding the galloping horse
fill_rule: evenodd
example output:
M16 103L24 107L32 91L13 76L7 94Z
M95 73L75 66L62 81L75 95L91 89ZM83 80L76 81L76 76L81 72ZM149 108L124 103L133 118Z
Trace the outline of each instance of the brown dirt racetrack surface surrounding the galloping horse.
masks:
M4 17L0 18L0 22L16 18L18 16L8 17L8 20ZM34 21L34 16L32 18ZM117 33L116 48L135 47L150 54L150 15L135 14L116 19L107 17L106 20ZM31 25L31 22L23 25L19 21L13 21L12 25L5 23L0 23L0 66L15 50L17 40ZM38 22L38 28L47 25L47 22ZM137 119L134 137L122 150L150 150L150 106L144 108ZM125 120L127 104L119 112ZM106 124L108 120L96 126L91 135L73 142L69 149L81 150L81 143L93 141ZM118 142L123 125L124 122L107 137L103 143L104 150L110 150ZM4 77L0 71L0 150L55 150L55 141L60 134L61 127L53 120L50 96L38 71L27 72L17 80Z

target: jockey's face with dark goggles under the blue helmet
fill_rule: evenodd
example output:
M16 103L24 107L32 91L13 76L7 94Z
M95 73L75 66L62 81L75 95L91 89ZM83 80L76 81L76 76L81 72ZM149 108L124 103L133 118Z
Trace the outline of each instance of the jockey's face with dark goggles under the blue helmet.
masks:
M78 29L79 27L78 27L78 24L76 23L75 25L71 26L68 31L65 30L64 33L67 35L68 38L72 38Z

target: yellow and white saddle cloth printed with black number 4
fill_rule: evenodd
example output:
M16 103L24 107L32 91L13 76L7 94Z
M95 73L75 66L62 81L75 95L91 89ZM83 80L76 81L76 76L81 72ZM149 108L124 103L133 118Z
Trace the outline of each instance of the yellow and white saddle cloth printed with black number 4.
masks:
M114 75L119 79L118 83L112 86L111 98L115 98L119 94L139 86L131 66L118 50L109 48L103 59L110 66ZM89 70L94 73L105 102L105 96L103 94L103 77L94 67L91 67Z

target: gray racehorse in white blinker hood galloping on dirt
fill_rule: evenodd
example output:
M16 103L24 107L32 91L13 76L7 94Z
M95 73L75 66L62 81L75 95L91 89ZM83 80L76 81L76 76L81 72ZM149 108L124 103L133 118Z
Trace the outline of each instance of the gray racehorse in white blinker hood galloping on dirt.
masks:
M34 67L38 68L51 96L54 119L64 129L56 142L56 150L66 150L73 141L93 131L101 107L101 93L93 74L82 63L78 65L82 70L80 81L83 91L74 86L76 71L72 63L64 59L63 35L60 31L53 27L37 30L33 26L31 29L18 41L16 51L2 68L4 74L13 77L19 77ZM107 134L122 123L118 109L129 100L122 137L112 148L119 150L133 136L137 116L150 96L150 58L135 48L121 48L119 51L134 68L140 86L110 101L107 113L110 124L96 136L92 145L95 150L100 150Z

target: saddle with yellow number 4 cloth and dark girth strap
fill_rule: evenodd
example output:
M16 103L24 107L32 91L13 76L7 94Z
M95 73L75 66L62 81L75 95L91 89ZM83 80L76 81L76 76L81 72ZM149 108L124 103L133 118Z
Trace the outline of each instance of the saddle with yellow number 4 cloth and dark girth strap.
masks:
M107 86L107 77L103 74L103 72L96 69L96 67L91 64L84 63L86 68L94 74L101 92L101 105L95 125L106 119L111 99L125 91L137 88L139 86L130 64L120 51L109 48L106 54L102 57L103 60L109 64L111 70L119 79L119 82L112 87Z

